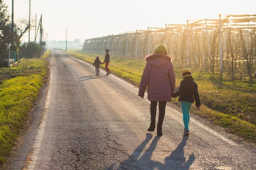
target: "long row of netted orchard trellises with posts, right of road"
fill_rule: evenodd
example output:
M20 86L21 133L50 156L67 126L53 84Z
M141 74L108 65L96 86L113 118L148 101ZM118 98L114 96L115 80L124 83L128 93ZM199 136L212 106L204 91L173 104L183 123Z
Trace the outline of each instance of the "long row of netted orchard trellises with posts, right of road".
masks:
M119 35L84 40L83 51L126 58L144 58L163 43L175 64L195 66L201 70L231 72L238 68L251 73L256 65L256 14L219 15L218 19L187 20ZM240 69L241 70L241 69Z

